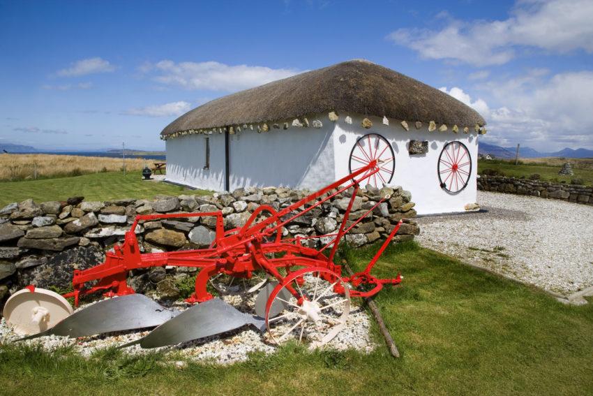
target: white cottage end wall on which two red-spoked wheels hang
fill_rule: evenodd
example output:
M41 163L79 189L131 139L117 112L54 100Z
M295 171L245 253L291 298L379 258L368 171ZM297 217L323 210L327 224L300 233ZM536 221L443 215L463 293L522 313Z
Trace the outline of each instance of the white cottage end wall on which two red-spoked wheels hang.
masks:
M351 116L352 117L352 116ZM396 156L396 170L391 184L400 185L412 192L412 200L416 203L419 214L435 214L445 212L463 212L467 203L476 202L476 173L478 139L473 133L453 133L451 126L446 132L428 132L428 124L416 130L409 122L410 131L405 131L400 122L390 119L390 125L382 124L382 119L370 117L373 126L364 129L361 126L362 117L352 117L352 124L346 124L343 117L336 122L333 134L333 146L336 155L336 177L348 174L350 151L356 140L367 133L378 133L391 143ZM408 154L410 140L428 140L428 154ZM467 146L472 156L472 174L470 181L463 191L449 193L440 187L437 174L437 163L440 153L448 142L459 141Z

